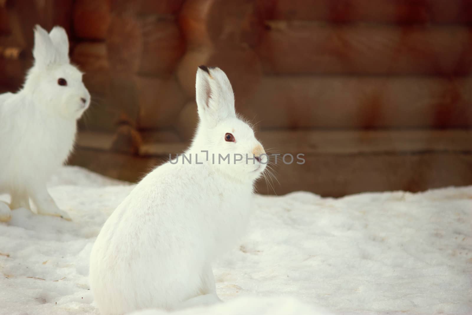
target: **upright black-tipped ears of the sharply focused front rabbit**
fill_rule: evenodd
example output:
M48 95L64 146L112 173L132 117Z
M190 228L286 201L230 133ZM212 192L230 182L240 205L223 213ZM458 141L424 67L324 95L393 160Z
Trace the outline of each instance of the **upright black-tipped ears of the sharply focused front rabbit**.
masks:
M208 126L236 117L233 88L220 68L198 67L195 91L198 116Z

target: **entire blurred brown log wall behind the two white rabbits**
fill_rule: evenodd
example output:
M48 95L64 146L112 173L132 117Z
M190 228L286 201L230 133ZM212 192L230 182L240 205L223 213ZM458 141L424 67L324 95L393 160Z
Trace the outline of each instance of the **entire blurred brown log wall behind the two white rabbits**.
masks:
M93 100L69 164L137 181L181 153L205 64L265 148L305 154L262 194L471 185L471 23L470 0L0 0L0 93L60 25Z

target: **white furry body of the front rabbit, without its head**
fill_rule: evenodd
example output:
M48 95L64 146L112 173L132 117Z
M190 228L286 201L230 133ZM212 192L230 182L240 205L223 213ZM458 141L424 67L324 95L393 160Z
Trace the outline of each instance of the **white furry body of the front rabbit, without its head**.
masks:
M244 231L251 195L252 187L228 185L202 165L168 162L147 175L94 245L91 289L101 313L171 309L215 294L210 263Z

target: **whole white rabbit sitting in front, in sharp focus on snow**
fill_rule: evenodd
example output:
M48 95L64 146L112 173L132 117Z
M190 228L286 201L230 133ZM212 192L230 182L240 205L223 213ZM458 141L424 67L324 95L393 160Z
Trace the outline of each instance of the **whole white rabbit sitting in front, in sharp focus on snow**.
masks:
M268 156L236 117L222 70L199 67L196 101L200 122L186 159L144 177L93 246L90 285L102 315L219 301L211 262L244 232Z

